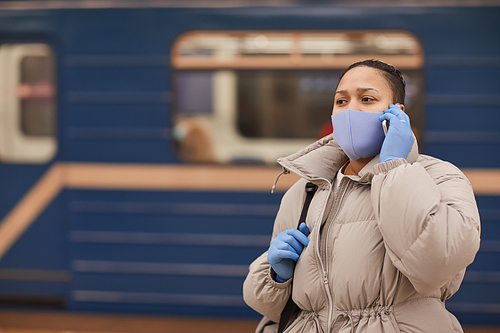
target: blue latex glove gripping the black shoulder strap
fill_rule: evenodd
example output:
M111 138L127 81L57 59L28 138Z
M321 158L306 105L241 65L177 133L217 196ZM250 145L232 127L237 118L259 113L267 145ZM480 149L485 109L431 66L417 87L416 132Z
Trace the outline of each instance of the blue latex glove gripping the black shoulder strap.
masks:
M271 241L267 261L276 272L276 280L285 282L293 275L295 262L299 259L304 246L309 244L309 228L302 222L297 229L282 231Z

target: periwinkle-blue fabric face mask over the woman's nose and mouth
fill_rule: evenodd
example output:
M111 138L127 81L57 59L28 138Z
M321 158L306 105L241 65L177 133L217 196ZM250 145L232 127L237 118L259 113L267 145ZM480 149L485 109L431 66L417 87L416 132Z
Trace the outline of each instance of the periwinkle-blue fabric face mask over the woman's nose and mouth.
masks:
M382 114L346 109L332 115L333 139L351 161L380 153L385 138L378 120Z

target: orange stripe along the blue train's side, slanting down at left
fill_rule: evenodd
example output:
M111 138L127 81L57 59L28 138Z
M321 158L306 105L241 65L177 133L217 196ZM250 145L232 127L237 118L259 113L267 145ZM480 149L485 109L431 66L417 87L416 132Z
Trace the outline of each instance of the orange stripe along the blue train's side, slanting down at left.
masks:
M0 259L64 188L268 192L278 167L56 163L0 223ZM463 170L476 195L500 195L500 169ZM298 180L281 177L277 190Z

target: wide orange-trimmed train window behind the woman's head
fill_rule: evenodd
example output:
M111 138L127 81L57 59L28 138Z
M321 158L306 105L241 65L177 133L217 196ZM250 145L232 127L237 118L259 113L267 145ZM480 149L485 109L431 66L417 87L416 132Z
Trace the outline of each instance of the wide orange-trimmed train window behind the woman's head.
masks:
M380 59L407 82L422 123L422 48L401 31L190 32L172 49L174 129L185 162L273 164L329 132L350 64ZM331 131L331 129L330 129Z

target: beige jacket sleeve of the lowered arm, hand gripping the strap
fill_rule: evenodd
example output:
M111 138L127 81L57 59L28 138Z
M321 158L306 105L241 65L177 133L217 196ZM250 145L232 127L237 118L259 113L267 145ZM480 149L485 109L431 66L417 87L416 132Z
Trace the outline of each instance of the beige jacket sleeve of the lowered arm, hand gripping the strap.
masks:
M304 200L305 184L306 181L299 180L283 196L274 222L272 238L283 230L297 227L302 208L299 202ZM250 265L243 283L243 298L252 309L274 322L279 322L281 312L292 292L292 279L285 283L279 283L273 279L266 251Z

